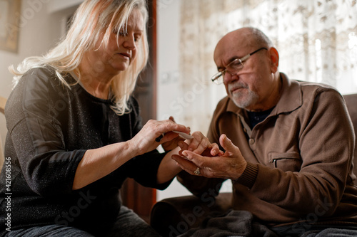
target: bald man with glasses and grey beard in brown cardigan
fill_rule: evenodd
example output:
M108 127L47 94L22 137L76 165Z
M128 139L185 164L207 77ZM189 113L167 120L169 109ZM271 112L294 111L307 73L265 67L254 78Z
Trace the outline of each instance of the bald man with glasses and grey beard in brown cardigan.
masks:
M233 209L278 236L357 236L355 137L341 94L280 73L278 51L256 28L223 36L214 61L212 80L227 96L208 138L224 154L174 156L193 174L180 174L181 183L200 196L231 179Z

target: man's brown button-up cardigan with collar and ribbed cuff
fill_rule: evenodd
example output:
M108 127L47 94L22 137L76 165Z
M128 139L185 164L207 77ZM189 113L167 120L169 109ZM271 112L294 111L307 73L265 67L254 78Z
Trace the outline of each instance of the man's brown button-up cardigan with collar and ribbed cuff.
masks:
M271 226L356 225L355 137L342 96L328 85L288 80L283 73L281 80L278 104L253 130L246 111L228 97L213 114L208 138L219 144L226 134L248 162L233 181L233 209L251 211ZM198 196L222 181L187 175L178 180Z

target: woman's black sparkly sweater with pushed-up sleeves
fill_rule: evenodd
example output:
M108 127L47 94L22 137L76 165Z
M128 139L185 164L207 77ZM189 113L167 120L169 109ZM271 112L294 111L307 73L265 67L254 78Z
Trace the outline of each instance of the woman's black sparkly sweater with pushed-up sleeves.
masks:
M66 80L75 81L71 75ZM169 185L156 184L164 154L154 150L72 190L86 149L124 142L141 129L134 98L129 100L131 112L122 116L111 105L111 100L95 98L79 84L67 88L49 68L29 70L21 78L5 110L8 135L0 175L0 232L8 227L5 218L10 214L11 230L56 223L96 234L114 223L121 206L119 189L126 177L157 189ZM6 189L9 177L11 186Z

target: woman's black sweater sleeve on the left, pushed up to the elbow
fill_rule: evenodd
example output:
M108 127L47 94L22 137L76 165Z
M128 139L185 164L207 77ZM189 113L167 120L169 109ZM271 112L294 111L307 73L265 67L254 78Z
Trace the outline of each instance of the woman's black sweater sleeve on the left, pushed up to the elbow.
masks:
M44 68L26 73L6 110L9 135L24 179L42 196L70 193L76 167L86 152L65 149L61 126L49 105L51 75Z

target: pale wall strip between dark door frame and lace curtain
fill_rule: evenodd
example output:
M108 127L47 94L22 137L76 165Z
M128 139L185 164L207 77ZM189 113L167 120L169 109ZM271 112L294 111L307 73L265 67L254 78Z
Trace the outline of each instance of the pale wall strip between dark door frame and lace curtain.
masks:
M166 120L174 115L171 102L180 97L178 90L179 78L179 38L180 38L180 8L179 0L157 1L157 48L158 48L158 88L157 88L157 118ZM180 121L176 121L180 122ZM157 200L172 196L189 195L176 179L164 191L157 191Z

